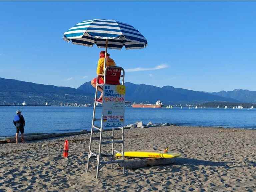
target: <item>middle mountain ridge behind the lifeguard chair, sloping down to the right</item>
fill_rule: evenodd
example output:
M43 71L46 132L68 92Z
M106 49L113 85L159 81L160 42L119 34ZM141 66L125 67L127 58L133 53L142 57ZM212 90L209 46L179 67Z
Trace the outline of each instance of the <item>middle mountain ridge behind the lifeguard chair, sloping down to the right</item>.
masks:
M152 85L136 85L130 82L125 83L126 101L136 103L155 103L158 99L164 104L174 103L202 103L210 101L239 102L236 99L203 93L201 91L192 91L188 89L174 88L172 86L156 87ZM94 94L90 82L86 82L78 89L85 91L87 94Z

